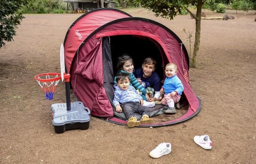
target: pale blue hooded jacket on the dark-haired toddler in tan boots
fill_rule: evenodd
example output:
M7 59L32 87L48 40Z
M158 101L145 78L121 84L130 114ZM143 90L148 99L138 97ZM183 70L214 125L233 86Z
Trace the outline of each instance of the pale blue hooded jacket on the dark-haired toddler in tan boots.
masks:
M114 88L113 104L115 107L126 102L140 102L140 99L143 99L133 86L129 86L125 91L118 87L117 84L114 84Z

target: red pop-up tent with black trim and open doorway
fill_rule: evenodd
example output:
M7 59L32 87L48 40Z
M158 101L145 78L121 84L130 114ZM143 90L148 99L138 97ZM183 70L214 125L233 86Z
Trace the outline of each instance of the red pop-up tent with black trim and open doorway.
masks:
M182 101L188 104L183 116L150 125L163 126L187 120L201 109L188 79L189 58L184 44L168 27L145 18L136 18L116 9L96 9L77 18L64 40L64 56L71 87L76 97L90 108L91 114L109 122L126 124L112 106L116 59L128 53L135 67L145 58L157 61L155 71L164 79L164 66L177 64L184 85ZM155 108L154 108L155 110Z

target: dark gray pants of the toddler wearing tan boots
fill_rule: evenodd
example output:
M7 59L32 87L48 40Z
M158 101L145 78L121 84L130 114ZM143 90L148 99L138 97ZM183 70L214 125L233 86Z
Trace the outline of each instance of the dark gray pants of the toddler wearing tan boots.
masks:
M139 102L127 102L122 104L123 113L125 114L126 119L135 116L134 113L138 113L140 115L149 115L150 116L150 109L140 105Z

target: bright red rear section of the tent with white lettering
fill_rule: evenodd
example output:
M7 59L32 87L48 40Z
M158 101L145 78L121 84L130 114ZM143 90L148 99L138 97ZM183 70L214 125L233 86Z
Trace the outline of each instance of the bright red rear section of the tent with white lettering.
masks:
M119 18L131 15L116 9L96 9L83 14L69 27L64 40L65 66L69 73L74 55L85 38L98 27Z

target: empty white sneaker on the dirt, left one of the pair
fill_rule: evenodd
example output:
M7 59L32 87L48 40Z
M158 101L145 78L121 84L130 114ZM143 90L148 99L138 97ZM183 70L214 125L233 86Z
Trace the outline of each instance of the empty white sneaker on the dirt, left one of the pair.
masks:
M157 148L153 149L149 155L152 158L159 158L163 155L171 153L171 144L170 143L161 143L157 146Z

